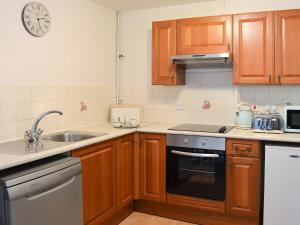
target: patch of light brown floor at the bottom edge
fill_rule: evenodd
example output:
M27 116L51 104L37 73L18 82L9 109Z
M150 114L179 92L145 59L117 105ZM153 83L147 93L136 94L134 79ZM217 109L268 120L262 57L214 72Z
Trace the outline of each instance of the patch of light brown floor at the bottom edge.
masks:
M144 213L134 212L120 225L193 225L177 220L171 220L158 216L152 216Z

